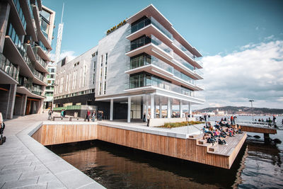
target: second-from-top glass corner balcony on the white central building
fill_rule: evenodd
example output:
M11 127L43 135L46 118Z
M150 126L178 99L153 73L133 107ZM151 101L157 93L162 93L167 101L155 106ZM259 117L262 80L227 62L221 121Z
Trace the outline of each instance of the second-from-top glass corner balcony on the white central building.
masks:
M139 38L138 40L134 40L131 42L131 45L126 47L126 54L129 57L133 57L135 55L139 55L142 52L146 52L147 54L151 54L150 52L154 52L161 57L165 57L167 59L172 59L173 50L170 47L165 45L161 40L158 40L154 35L144 36Z

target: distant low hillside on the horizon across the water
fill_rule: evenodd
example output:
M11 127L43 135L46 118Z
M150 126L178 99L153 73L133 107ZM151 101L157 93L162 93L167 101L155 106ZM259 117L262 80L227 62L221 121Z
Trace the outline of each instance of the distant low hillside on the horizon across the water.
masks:
M219 111L224 111L228 114L251 114L252 108L245 107L245 106L224 106L224 107L213 107L213 108L203 108L201 110L195 110L195 112L216 112L216 109ZM253 108L253 113L258 115L265 115L265 114L283 114L283 109L277 108Z

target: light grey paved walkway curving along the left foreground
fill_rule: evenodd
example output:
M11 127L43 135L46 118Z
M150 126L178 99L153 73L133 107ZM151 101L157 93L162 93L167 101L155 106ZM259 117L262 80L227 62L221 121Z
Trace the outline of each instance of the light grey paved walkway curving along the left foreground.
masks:
M6 120L0 146L0 188L103 188L28 134L47 113Z

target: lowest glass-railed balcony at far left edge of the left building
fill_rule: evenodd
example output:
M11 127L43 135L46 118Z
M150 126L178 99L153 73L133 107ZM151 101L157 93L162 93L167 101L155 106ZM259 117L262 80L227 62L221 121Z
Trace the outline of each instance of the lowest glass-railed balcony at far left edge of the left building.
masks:
M17 69L17 67L15 67L2 53L0 53L0 69L8 74L0 74L0 84L18 84L19 69Z

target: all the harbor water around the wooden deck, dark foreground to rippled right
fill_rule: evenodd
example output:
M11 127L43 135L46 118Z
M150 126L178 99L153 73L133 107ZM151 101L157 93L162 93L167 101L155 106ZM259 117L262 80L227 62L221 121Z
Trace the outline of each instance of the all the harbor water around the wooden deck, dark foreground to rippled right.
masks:
M100 141L49 148L105 188L283 188L283 144L248 135L229 170ZM270 137L283 141L283 131Z

